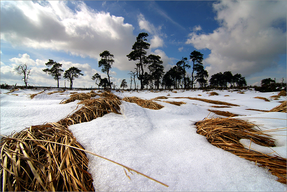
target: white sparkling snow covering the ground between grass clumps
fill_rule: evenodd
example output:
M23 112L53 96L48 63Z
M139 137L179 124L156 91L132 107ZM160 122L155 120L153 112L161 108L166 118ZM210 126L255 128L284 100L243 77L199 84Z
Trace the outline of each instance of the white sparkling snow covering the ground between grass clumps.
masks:
M50 91L30 99L29 95L41 90L19 90L10 94L1 90L1 134L10 135L13 130L19 132L30 125L45 122L57 122L68 114L78 110L77 100L68 104L59 104L69 98L70 92L54 93ZM55 91L55 90L54 90ZM78 91L90 92L90 91ZM91 122L69 126L86 150L129 166L167 185L165 187L136 173L127 174L123 167L110 161L87 154L89 172L94 179L96 191L286 191L286 185L277 182L267 169L258 167L254 162L245 160L220 148L196 133L194 122L205 117L221 117L207 111L214 109L240 114L240 118L255 124L264 125L262 129L286 127L286 113L250 111L247 108L270 110L286 100L270 98L278 92L260 93L246 91L218 91L219 95L209 96L202 91L166 92L115 92L120 98L136 96L151 99L159 96L198 97L237 104L231 108L212 108L215 104L186 98L169 98L170 101L183 101L186 104L175 106L156 101L164 106L160 110L142 108L135 103L122 101L122 114L106 114ZM11 95L18 94L18 96ZM64 94L64 95L60 95ZM201 96L199 96L201 95ZM229 95L229 96L225 96ZM270 102L253 97L266 97ZM220 105L219 105L220 106ZM77 108L78 107L78 108ZM272 119L268 119L272 118ZM271 148L254 144L250 140L240 142L264 153L276 151L286 158L286 129L272 132L283 136L272 136L276 146ZM274 154L274 153L272 153ZM271 154L271 155L272 155Z

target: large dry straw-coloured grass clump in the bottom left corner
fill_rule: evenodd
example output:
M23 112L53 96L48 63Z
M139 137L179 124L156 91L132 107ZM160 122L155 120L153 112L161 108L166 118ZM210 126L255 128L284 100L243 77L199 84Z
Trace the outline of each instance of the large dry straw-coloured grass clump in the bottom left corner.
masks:
M1 191L94 191L85 152L72 132L51 123L31 126L1 141Z

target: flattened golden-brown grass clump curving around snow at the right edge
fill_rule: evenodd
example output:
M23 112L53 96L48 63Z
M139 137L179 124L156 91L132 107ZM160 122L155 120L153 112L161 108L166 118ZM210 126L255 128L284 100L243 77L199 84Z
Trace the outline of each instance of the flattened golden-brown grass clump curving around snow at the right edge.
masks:
M286 158L272 157L255 150L244 148L240 139L250 139L256 144L275 147L274 140L268 138L264 131L256 130L256 125L233 118L204 119L196 124L196 133L207 138L208 142L234 155L256 162L258 166L267 167L278 177L278 181L286 184Z

